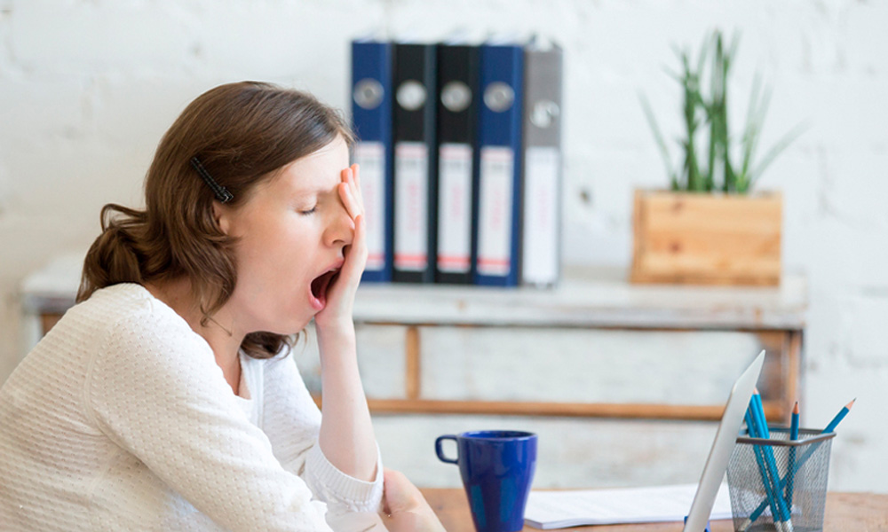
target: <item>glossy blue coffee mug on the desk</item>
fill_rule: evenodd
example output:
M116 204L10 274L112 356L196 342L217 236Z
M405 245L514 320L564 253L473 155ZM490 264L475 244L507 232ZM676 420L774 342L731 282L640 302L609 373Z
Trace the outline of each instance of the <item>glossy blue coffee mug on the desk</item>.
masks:
M444 456L444 440L456 442L456 459ZM459 465L478 532L524 528L524 507L536 468L536 434L512 430L447 434L435 440L435 452L440 461Z

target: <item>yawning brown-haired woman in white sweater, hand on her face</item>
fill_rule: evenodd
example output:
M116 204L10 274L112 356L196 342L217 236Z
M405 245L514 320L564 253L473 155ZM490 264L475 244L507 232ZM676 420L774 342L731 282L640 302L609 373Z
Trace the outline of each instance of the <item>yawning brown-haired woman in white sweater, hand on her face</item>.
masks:
M352 143L333 110L265 83L186 107L145 210L103 208L78 304L0 389L0 528L383 529ZM287 357L312 319L322 412ZM402 510L440 527L392 486L392 529Z

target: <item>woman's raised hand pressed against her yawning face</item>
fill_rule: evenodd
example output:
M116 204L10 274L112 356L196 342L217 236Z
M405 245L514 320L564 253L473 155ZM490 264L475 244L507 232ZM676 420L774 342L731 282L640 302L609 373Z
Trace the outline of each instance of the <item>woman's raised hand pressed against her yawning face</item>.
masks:
M352 243L345 246L345 263L337 278L329 286L327 306L314 317L319 329L347 331L353 327L354 294L361 282L361 274L367 264L367 227L364 223L364 200L361 196L360 168L353 164L345 168L340 176L337 192L352 218L354 236Z

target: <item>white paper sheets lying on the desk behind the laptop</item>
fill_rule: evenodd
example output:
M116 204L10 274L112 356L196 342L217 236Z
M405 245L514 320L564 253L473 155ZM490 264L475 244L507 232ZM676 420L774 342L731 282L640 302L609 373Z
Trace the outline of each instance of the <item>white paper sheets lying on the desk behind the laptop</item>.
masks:
M535 528L683 521L696 484L623 489L531 491L524 519ZM718 489L710 519L731 519L727 484Z

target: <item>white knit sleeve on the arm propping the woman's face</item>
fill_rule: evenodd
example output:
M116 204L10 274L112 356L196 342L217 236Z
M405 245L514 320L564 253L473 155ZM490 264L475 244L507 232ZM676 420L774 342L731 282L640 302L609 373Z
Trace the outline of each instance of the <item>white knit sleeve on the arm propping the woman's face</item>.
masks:
M321 412L305 388L292 356L268 361L264 375L262 426L284 468L302 475L313 493L327 503L331 524L349 513L376 515L383 496L383 465L378 447L374 481L361 481L343 473L329 462L318 444Z

